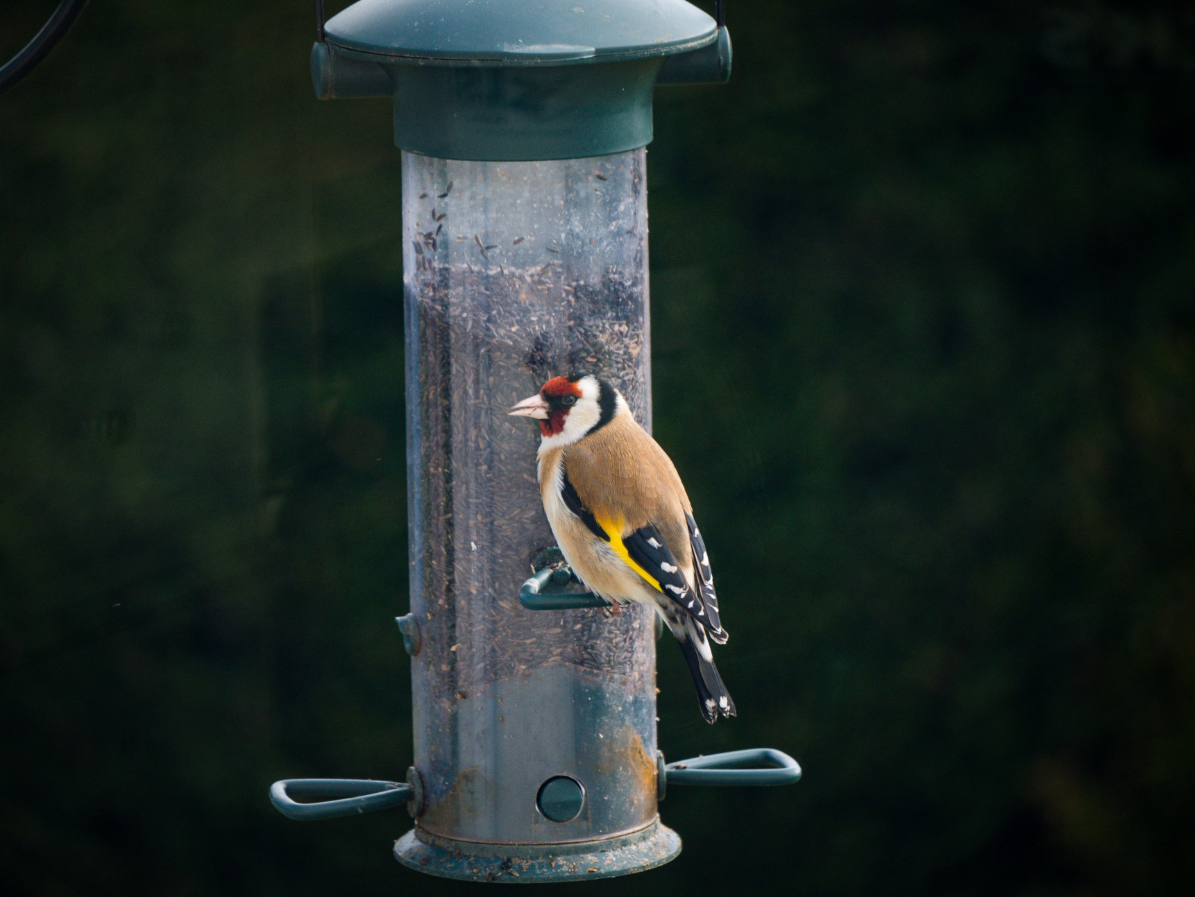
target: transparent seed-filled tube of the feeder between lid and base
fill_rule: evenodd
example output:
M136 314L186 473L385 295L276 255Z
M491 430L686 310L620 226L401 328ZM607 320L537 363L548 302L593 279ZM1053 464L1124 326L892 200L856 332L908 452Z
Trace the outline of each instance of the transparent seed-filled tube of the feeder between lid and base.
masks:
M537 428L507 416L595 373L650 428L645 154L472 162L403 153L417 836L609 838L656 821L654 621L532 612L554 543ZM583 799L552 821L541 786ZM550 815L566 813L549 811Z

